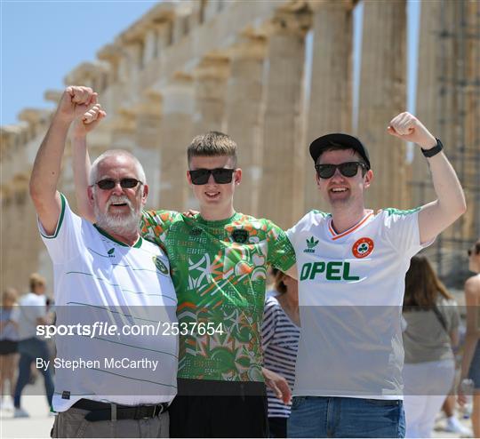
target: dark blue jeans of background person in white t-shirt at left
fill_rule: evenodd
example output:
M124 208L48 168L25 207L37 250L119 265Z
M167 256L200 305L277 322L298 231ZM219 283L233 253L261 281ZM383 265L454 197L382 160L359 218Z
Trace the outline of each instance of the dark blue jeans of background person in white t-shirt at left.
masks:
M15 408L20 408L20 397L23 387L27 386L28 379L30 379L30 365L36 361L36 358L42 358L44 361L50 360L50 352L46 341L41 339L24 339L19 341L19 378L17 379L17 386L15 387L15 395L13 397L13 404ZM45 392L48 400L48 405L52 407L53 396L53 379L52 366L49 366L45 371L40 369L44 375Z

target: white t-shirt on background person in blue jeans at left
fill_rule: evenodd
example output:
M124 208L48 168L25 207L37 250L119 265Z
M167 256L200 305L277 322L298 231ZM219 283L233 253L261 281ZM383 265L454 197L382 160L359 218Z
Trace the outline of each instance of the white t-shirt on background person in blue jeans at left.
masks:
M38 295L28 292L19 300L18 306L12 309L12 321L18 323L19 340L33 339L36 336L37 318L45 318L46 298L44 294Z

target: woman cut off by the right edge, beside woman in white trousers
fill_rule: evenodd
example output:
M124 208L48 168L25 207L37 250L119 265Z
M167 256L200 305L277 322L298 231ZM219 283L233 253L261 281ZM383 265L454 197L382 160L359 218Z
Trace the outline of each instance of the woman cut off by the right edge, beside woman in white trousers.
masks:
M468 269L476 275L468 277L465 283L467 333L461 379L472 379L474 382L472 426L474 437L480 437L480 239L468 250ZM463 404L467 399L461 392L459 387L459 402Z

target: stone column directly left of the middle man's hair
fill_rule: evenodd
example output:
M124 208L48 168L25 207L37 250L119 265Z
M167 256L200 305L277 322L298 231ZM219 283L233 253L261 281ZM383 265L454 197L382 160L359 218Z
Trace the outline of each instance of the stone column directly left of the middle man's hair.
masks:
M159 205L183 211L187 206L187 148L193 138L194 91L192 77L177 74L162 89L163 117L160 122L161 172ZM188 204L188 207L193 204Z

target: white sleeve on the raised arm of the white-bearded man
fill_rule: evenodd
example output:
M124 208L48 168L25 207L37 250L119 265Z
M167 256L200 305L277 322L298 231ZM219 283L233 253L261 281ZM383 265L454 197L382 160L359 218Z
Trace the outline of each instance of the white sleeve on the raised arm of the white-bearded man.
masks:
M71 211L63 194L60 194L60 201L60 217L52 235L45 232L42 223L37 219L38 230L53 264L63 264L76 257L79 251L84 251L84 243L81 242L84 220Z

